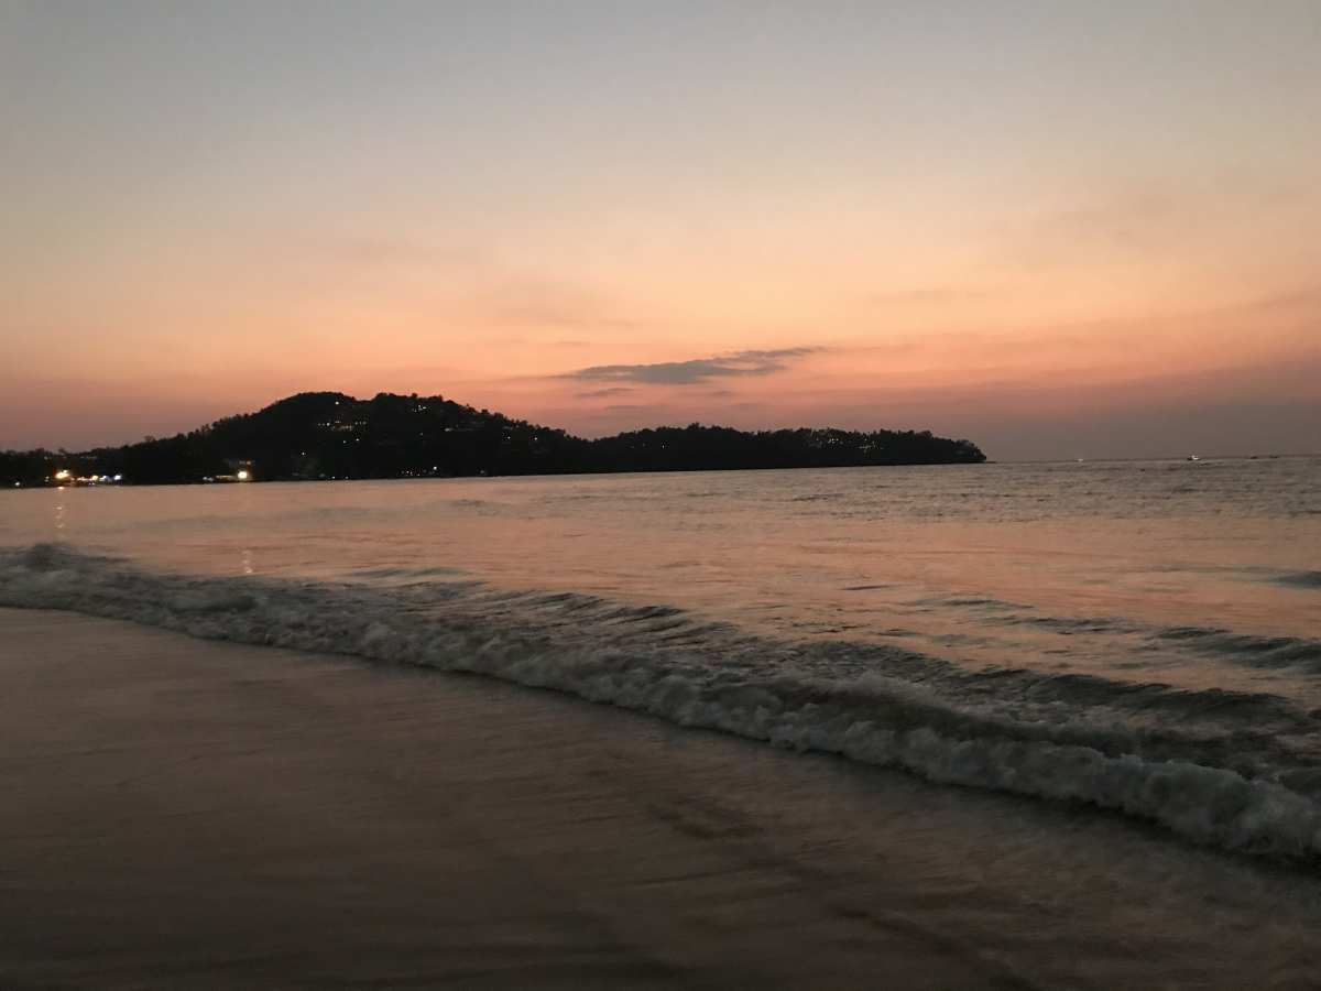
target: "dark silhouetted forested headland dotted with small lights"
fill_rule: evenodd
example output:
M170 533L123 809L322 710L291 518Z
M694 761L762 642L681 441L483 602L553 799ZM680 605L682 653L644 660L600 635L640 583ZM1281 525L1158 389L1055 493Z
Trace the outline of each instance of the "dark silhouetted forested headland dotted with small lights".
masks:
M173 437L82 453L0 452L7 488L69 477L129 484L412 478L552 472L650 472L733 468L971 464L976 444L929 431L660 427L584 440L443 396L354 399L303 392L254 414ZM240 476L242 473L242 476Z

